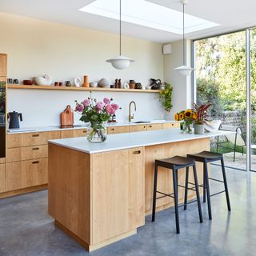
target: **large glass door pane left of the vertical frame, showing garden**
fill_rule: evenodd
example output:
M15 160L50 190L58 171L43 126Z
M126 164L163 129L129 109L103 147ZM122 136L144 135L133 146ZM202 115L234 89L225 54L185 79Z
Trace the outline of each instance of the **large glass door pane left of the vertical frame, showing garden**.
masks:
M194 41L194 67L194 101L210 102L210 120L236 132L212 139L211 150L224 154L226 166L246 170L246 30Z

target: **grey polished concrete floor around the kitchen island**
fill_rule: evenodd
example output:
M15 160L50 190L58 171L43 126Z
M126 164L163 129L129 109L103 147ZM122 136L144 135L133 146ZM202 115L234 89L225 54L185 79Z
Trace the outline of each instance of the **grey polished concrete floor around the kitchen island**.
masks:
M174 209L146 217L138 234L90 253L92 256L118 255L256 255L256 174L226 170L232 211L226 209L224 194L212 198L213 220L198 222L198 210L190 204L180 209L181 234L175 234ZM212 167L212 177L221 172ZM222 184L221 184L222 186ZM211 183L212 192L222 187ZM47 192L0 200L0 255L88 255L78 243L54 226L47 214Z

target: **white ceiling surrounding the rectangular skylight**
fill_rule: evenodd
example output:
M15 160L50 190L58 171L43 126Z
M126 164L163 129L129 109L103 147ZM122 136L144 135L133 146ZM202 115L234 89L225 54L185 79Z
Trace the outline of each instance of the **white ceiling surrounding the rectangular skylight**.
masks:
M78 9L93 1L0 0L0 12L118 34L119 27L117 20L78 11ZM182 11L182 5L179 0L147 1ZM255 10L255 0L188 0L185 9L186 14L218 23L220 26L186 34L186 38L203 38L214 34L222 34L245 27L256 26ZM177 41L182 38L180 34L156 30L146 26L138 26L128 22L122 22L122 34L163 43Z

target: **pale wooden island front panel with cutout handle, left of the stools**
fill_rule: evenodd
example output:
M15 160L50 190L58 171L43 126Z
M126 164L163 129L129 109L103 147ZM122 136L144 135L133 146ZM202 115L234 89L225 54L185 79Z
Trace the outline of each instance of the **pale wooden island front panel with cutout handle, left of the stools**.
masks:
M143 148L92 154L93 243L144 224L143 157Z

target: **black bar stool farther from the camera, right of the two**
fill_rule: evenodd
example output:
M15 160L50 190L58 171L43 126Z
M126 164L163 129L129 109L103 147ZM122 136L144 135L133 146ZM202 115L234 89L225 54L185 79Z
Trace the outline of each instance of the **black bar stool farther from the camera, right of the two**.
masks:
M221 193L225 192L226 193L227 209L230 211L231 210L230 196L229 196L229 190L228 190L227 182L226 182L226 171L225 171L225 166L224 166L223 155L218 154L218 153L212 153L210 151L202 151L198 154L188 154L187 157L193 159L194 161L203 163L203 185L199 185L199 186L203 187L203 202L206 202L206 195L207 195L207 205L208 205L209 219L212 219L211 206L210 206L210 197L212 197L214 195L221 194ZM209 162L216 162L216 161L221 161L221 163L222 163L223 181L215 179L215 178L209 178L207 164ZM210 194L209 179L214 180L215 182L224 183L225 190L220 191L220 192L215 193L215 194ZM188 180L186 180L186 189L188 187L188 183L190 183L190 182L188 182ZM190 183L190 184L194 185L193 183Z

